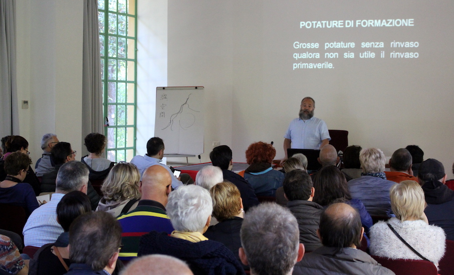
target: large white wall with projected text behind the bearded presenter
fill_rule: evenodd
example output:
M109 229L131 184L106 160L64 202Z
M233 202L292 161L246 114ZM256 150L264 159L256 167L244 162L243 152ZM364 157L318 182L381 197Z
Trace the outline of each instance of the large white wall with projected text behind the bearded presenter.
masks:
M381 148L387 156L417 144L425 158L445 165L449 178L454 149L454 21L451 1L169 1L168 85L205 86L205 154L213 141L230 146L234 161L255 141L274 141L283 157L283 135L304 96L329 129L349 131L349 144ZM411 5L408 5L411 4ZM392 6L393 8L386 8ZM411 7L411 8L410 8ZM370 28L352 32L299 30L299 21L415 18L415 28ZM394 36L393 36L394 35ZM330 38L331 37L331 38ZM415 39L418 60L339 59L344 69L293 71L293 41L305 39ZM394 39L397 39L394 38ZM292 40L294 39L294 40ZM361 40L359 40L361 41ZM308 41L309 42L309 41ZM359 49L358 49L359 50ZM388 49L387 49L388 50ZM358 51L357 51L358 57ZM311 60L312 61L312 60ZM322 60L325 61L325 60Z

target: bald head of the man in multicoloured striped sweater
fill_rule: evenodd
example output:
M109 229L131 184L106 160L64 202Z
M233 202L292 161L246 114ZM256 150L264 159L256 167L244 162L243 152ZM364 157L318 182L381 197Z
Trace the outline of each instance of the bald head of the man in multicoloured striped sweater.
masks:
M166 168L153 165L144 171L140 185L141 200L153 200L166 206L171 189L172 177Z

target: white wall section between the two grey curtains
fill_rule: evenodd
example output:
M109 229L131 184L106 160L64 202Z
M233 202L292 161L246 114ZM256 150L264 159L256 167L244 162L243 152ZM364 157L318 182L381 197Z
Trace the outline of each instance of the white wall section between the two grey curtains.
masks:
M20 135L33 162L49 132L81 152L83 1L16 2L18 100L29 100L19 107Z

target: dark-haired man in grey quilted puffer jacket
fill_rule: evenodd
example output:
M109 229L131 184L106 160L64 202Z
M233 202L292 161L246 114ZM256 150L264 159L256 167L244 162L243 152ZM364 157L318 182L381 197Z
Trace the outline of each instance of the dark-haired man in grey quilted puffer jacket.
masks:
M323 207L313 202L315 189L312 180L306 171L295 169L285 173L283 187L288 199L287 208L298 222L299 242L304 244L306 251L314 251L322 246L317 229Z

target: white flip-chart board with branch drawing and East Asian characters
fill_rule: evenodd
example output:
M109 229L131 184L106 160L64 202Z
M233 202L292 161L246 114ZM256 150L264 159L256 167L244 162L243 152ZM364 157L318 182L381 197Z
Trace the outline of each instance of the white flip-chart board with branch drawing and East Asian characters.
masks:
M155 137L165 154L204 153L204 87L157 87Z

